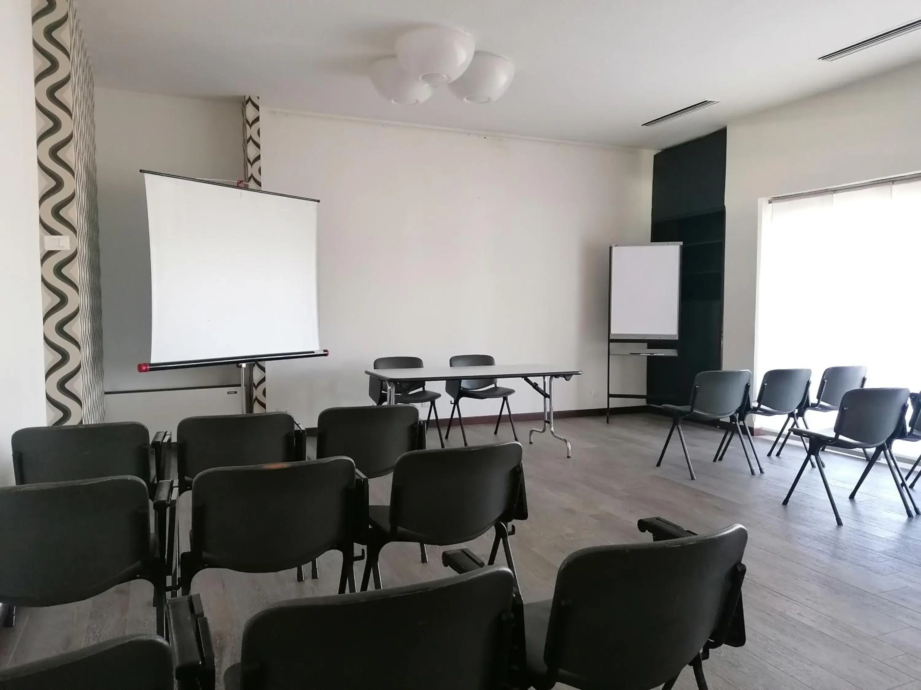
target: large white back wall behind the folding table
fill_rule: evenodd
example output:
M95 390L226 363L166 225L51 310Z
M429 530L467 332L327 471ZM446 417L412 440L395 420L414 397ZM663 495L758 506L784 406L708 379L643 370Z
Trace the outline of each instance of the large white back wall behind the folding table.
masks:
M584 375L557 385L557 408L604 407L607 247L648 242L651 173L650 151L263 104L264 189L321 200L320 337L332 352L269 362L269 407L312 426L322 408L370 404L363 372L376 357L447 364L472 352L578 366ZM616 362L612 384L642 393L645 371L645 362ZM541 409L528 385L511 385L513 411ZM464 405L467 415L497 408Z

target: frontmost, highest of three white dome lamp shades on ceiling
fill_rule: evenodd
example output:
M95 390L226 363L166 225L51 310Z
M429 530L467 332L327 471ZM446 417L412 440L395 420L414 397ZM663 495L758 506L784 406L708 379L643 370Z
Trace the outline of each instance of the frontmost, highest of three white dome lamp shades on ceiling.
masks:
M397 39L397 60L407 75L431 86L461 76L473 57L469 34L448 27L425 27Z

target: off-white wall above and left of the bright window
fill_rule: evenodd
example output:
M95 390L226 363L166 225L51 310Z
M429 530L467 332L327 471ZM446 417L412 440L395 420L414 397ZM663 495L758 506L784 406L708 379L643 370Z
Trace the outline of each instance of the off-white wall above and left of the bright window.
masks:
M916 170L921 63L729 124L724 367L754 368L759 200Z

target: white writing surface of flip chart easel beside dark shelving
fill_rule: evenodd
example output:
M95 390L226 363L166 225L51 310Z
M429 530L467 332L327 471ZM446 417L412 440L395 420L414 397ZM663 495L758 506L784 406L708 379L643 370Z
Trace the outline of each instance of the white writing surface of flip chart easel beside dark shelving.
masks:
M681 243L611 247L611 338L678 339Z

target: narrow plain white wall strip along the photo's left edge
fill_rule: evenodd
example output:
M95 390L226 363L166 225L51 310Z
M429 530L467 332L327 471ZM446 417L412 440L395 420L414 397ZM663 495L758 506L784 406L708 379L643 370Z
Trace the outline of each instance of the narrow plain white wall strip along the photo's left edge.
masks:
M0 3L0 485L13 431L45 424L39 188L29 3Z

